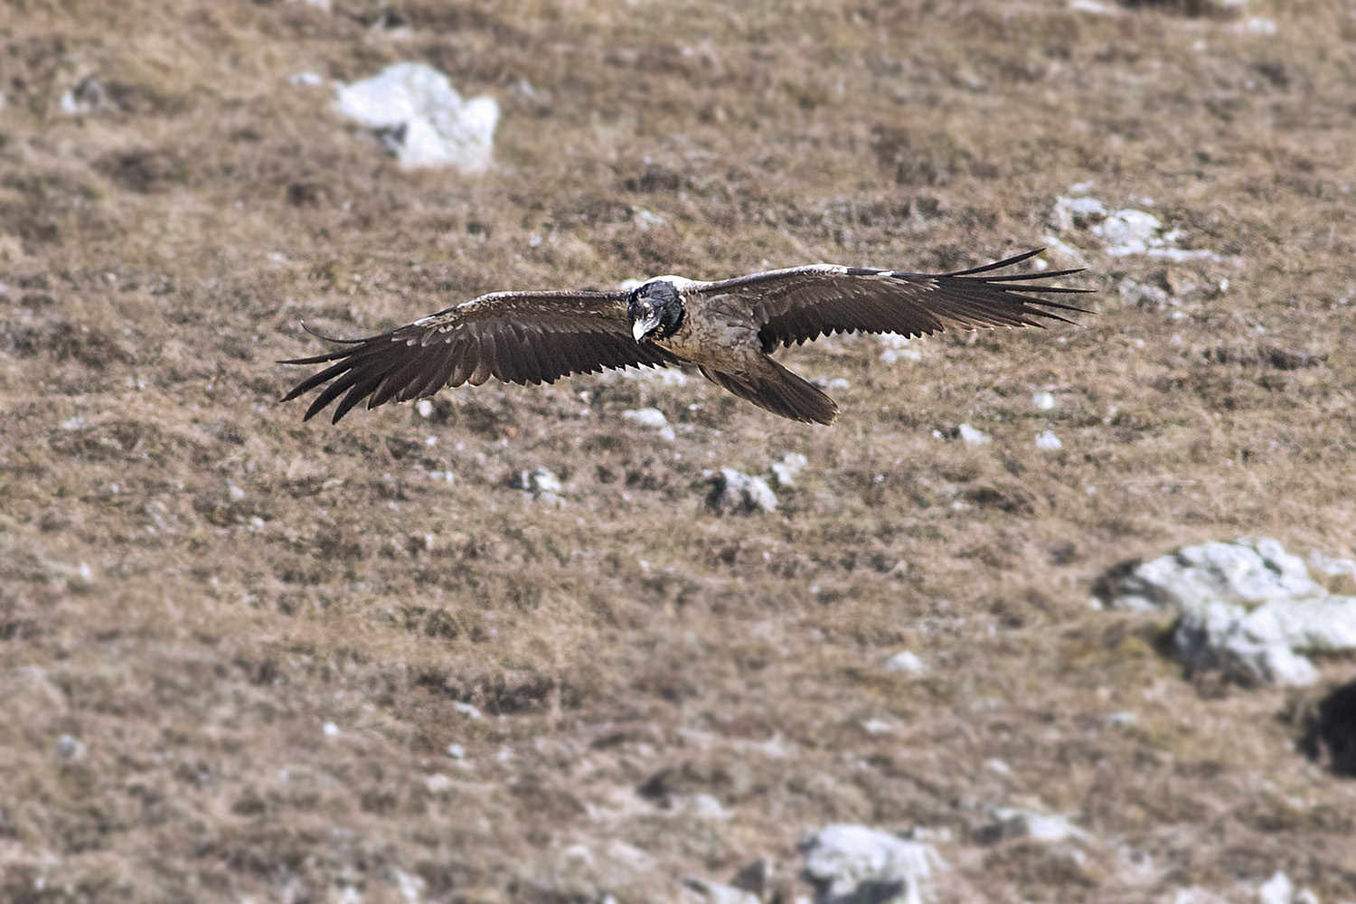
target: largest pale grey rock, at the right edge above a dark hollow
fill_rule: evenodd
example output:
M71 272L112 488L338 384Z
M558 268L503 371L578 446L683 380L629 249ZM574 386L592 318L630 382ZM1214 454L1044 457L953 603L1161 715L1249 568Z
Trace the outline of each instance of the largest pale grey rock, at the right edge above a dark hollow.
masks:
M1306 686L1319 672L1303 652L1356 651L1356 596L1330 594L1269 538L1185 546L1124 565L1096 592L1117 609L1176 611L1174 646L1193 672L1223 668L1243 683Z

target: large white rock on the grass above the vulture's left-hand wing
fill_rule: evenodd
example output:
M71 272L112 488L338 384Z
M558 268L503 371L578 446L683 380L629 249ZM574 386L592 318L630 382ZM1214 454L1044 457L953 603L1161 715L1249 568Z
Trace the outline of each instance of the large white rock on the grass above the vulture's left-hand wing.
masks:
M447 76L422 62L397 62L372 79L339 88L335 108L373 130L400 165L490 168L499 104L462 100Z

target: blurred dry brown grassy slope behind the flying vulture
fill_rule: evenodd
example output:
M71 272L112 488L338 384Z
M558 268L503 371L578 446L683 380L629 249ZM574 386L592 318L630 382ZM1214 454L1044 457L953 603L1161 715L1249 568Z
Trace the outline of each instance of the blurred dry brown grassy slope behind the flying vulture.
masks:
M488 171L334 111L404 60L499 103ZM789 904L850 823L937 900L1356 900L1319 690L1089 604L1184 543L1352 554L1353 85L1345 0L5 0L0 899L700 901L762 859ZM833 428L650 371L277 405L301 320L1040 245L1096 313L786 352Z

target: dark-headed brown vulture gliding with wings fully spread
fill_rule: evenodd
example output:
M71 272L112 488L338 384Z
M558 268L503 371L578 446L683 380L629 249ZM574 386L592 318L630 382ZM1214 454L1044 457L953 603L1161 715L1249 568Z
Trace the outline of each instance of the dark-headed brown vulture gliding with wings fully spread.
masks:
M491 377L552 384L606 367L692 363L759 408L830 424L838 405L773 361L777 346L835 332L928 336L1071 323L1058 312L1086 312L1041 295L1090 290L1036 281L1078 270L1009 270L1040 251L948 274L811 264L717 282L656 276L629 291L495 291L366 339L315 333L340 347L282 362L325 365L282 401L320 388L305 419L338 401L335 423L363 400L376 408Z

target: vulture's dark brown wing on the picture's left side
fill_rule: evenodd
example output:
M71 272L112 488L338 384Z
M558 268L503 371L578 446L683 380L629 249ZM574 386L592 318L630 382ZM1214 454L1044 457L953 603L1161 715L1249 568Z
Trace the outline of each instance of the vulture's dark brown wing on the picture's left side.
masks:
M309 327L306 331L320 336ZM636 343L624 293L498 291L378 336L320 337L344 347L281 362L330 365L282 397L290 401L330 384L302 420L340 396L331 423L363 398L367 408L376 408L391 400L431 396L443 386L479 386L491 377L551 384L567 374L677 361L652 344Z

